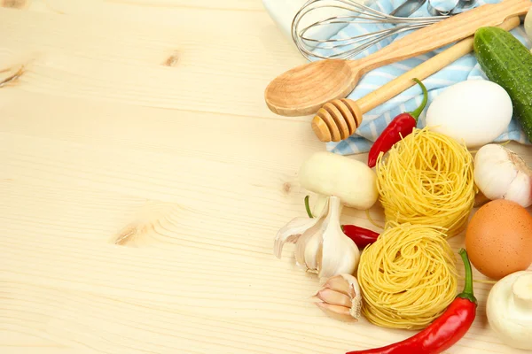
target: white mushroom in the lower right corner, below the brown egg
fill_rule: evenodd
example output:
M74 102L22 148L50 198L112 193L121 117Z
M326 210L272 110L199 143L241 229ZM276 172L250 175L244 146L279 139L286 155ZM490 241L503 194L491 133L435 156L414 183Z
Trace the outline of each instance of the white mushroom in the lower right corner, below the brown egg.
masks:
M532 272L515 272L497 281L489 291L486 314L502 342L532 350Z

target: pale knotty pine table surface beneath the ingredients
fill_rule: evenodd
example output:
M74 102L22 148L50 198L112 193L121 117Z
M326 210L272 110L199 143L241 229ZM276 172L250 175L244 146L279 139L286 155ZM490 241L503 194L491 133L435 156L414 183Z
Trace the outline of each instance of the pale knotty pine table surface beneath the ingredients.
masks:
M263 102L304 59L261 1L0 4L0 75L25 67L0 88L0 353L335 354L412 335L329 319L293 247L272 255L325 146ZM489 289L449 353L520 352L489 329Z

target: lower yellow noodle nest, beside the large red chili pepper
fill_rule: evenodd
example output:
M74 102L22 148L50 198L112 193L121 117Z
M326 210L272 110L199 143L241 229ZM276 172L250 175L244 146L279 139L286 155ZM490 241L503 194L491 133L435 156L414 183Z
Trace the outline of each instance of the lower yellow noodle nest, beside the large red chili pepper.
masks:
M421 329L458 288L456 259L440 227L390 223L362 252L356 278L362 313L379 327Z

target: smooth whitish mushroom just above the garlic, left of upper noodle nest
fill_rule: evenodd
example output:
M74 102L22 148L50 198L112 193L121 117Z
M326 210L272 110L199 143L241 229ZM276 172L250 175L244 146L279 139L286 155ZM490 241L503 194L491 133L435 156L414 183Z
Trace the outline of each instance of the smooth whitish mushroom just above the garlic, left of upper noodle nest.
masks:
M372 207L379 191L377 174L364 162L328 151L312 154L301 165L301 186L358 210Z

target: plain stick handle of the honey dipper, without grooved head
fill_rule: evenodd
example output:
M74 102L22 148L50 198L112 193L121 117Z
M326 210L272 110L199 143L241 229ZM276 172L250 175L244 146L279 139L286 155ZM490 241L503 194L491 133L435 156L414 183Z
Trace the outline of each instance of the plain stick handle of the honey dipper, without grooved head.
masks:
M515 16L510 19L506 19L505 22L497 27L509 31L515 27L518 27L519 25L519 16ZM473 36L458 42L448 50L443 50L440 54L437 54L433 58L426 60L410 71L396 77L394 80L387 82L387 84L381 86L379 89L376 89L375 91L357 100L356 104L358 104L358 107L363 114L365 112L369 112L379 104L387 102L391 98L402 93L404 90L416 85L416 82L412 79L426 79L428 76L442 70L445 66L450 65L454 61L458 60L458 58L464 57L465 54L468 54L471 51L473 51Z

